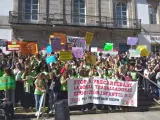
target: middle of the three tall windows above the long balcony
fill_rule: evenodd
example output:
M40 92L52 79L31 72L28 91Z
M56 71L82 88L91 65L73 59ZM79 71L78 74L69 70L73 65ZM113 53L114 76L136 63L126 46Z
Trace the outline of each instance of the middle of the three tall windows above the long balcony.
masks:
M85 0L73 1L73 22L85 23Z

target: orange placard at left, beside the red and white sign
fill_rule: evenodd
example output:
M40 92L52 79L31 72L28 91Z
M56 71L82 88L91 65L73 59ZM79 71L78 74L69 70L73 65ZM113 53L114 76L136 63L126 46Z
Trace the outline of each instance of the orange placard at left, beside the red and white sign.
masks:
M37 54L38 53L37 42L21 42L20 51L22 55Z

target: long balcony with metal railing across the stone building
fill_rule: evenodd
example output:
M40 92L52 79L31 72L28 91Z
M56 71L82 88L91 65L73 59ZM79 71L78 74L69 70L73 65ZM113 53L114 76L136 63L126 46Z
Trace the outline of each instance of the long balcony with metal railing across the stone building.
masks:
M109 18L104 16L71 15L71 14L46 14L46 13L23 13L9 12L10 24L38 24L38 25L61 25L102 27L106 29L141 29L141 20L129 18Z

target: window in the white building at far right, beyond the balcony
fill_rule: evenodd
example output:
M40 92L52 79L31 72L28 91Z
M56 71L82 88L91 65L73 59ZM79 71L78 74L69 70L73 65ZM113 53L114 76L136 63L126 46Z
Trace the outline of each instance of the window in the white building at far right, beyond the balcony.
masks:
M157 24L157 9L150 7L149 8L149 16L150 16L150 24Z

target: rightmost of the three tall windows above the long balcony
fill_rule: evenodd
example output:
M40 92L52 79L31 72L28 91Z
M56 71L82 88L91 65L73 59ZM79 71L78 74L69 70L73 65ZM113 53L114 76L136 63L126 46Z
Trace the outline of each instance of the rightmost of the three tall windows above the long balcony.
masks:
M116 4L116 22L117 25L127 25L127 5L123 2Z

